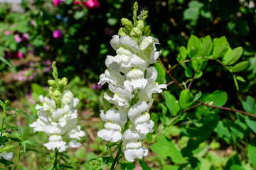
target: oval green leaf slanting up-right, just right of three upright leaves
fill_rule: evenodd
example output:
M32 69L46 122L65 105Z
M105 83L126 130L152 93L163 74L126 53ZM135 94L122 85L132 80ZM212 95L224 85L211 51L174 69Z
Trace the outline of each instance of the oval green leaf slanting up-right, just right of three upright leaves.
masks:
M236 47L228 55L223 57L223 63L226 65L231 65L237 62L242 56L242 47Z

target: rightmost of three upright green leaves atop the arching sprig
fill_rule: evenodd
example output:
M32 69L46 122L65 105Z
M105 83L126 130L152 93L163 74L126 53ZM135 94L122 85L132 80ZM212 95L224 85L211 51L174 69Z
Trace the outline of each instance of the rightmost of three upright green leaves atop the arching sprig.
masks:
M213 45L213 57L215 58L223 57L229 48L229 43L225 36L221 38L214 38Z

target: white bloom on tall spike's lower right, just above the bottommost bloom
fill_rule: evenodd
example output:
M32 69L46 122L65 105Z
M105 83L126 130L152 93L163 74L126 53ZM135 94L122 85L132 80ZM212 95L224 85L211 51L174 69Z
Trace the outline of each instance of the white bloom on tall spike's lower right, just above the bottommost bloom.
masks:
M149 108L153 103L153 99L149 101L139 101L137 104L132 106L128 111L128 117L131 120L132 126L142 134L153 132L154 122L150 120Z

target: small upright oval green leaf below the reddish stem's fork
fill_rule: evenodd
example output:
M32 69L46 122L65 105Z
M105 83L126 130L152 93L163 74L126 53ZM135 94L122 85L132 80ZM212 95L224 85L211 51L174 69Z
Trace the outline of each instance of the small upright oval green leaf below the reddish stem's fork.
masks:
M181 104L182 109L189 108L193 104L193 94L189 91L189 89L181 91L179 102Z

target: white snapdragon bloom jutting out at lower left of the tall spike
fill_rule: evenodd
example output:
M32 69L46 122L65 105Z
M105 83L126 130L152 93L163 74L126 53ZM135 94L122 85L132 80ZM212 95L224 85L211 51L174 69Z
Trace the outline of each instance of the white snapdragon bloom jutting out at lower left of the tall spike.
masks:
M122 111L110 109L104 114L104 111L100 111L100 118L105 121L105 129L97 132L98 137L110 142L117 142L121 140L122 127L127 123L127 116Z

